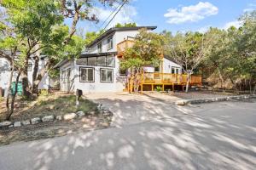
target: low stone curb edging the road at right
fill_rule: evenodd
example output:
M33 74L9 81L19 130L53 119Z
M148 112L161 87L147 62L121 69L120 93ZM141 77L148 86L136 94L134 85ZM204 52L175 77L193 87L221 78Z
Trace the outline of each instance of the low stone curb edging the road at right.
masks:
M207 98L207 99L182 99L182 100L177 100L177 102L175 102L175 105L189 105L189 104L196 105L196 104L202 104L202 103L228 101L230 99L250 99L250 98L256 98L256 95L249 94L249 95L236 95L236 96Z

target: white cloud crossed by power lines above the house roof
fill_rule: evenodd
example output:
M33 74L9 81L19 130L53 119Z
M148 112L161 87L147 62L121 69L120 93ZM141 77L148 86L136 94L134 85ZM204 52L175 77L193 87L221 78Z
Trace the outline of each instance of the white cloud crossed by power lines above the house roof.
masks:
M113 18L114 8L116 8L118 4L113 4L113 8L100 8L96 7L91 11L91 14L96 14L96 17L100 20L99 26L102 26L102 22L108 19L111 20ZM112 14L113 13L113 14ZM108 16L112 14L109 18ZM134 22L134 17L137 15L137 9L131 5L125 5L119 13L114 17L114 19L109 24L108 28L115 26L117 23L129 23ZM105 22L104 26L108 24L108 21ZM103 26L103 27L104 27Z

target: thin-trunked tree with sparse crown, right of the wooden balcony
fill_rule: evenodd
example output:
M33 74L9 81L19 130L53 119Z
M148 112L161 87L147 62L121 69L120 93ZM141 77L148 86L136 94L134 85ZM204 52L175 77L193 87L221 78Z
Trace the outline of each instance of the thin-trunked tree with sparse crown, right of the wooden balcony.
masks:
M190 77L193 71L206 59L207 45L210 37L205 37L199 32L177 32L175 36L165 34L165 53L182 65L183 72L187 74L186 93L189 91Z

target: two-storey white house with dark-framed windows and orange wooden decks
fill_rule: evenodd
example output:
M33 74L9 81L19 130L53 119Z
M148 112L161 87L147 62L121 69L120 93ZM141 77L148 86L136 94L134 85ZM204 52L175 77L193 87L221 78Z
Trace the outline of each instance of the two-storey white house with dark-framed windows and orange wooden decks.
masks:
M137 36L140 29L153 31L156 26L111 28L105 31L81 54L79 59L62 60L55 65L60 68L61 91L75 92L81 89L86 93L122 92L127 88L127 75L119 69L118 44ZM162 68L145 67L147 72L182 72L181 65L164 58Z

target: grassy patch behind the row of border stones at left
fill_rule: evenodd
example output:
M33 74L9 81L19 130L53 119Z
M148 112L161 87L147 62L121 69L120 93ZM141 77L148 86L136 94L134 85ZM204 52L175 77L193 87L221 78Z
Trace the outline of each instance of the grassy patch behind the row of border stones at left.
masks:
M78 108L75 103L76 97L73 94L40 95L35 101L17 99L15 103L15 113L11 116L11 119L13 121L20 121L37 116L60 116L76 111L97 111L97 105L88 99L81 99ZM5 114L6 112L1 110L0 121L3 121Z

